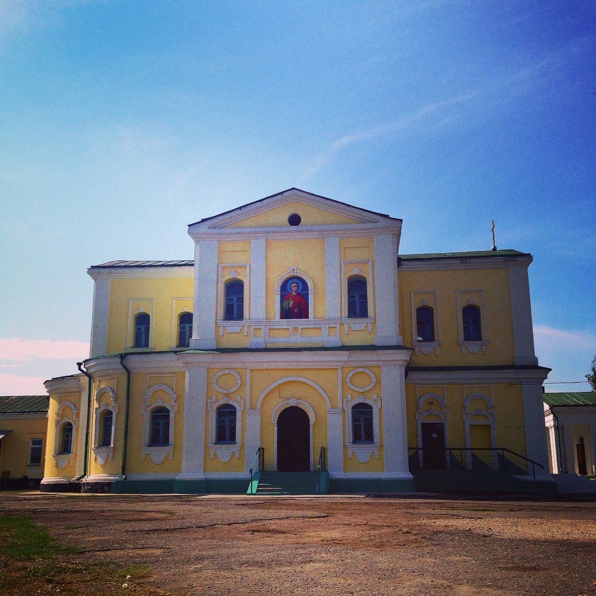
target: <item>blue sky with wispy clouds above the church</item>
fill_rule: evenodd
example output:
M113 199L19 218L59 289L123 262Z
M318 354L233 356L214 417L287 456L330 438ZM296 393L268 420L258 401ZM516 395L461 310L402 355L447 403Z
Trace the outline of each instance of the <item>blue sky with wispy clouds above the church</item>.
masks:
M0 394L76 372L89 265L299 187L402 253L530 252L548 381L596 353L596 6L0 0ZM589 390L587 383L549 391Z

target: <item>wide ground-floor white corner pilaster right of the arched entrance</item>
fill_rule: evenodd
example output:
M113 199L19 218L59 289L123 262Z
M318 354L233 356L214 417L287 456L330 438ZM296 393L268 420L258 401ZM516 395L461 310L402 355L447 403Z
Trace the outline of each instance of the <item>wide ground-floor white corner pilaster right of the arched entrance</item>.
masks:
M402 367L381 366L381 407L385 475L411 479L408 465L405 371Z

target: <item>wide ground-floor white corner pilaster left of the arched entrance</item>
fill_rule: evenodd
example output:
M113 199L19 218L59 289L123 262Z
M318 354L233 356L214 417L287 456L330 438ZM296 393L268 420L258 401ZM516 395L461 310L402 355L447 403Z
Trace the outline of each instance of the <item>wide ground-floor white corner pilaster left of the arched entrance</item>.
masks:
M178 480L204 480L207 367L189 363L185 387L182 473Z

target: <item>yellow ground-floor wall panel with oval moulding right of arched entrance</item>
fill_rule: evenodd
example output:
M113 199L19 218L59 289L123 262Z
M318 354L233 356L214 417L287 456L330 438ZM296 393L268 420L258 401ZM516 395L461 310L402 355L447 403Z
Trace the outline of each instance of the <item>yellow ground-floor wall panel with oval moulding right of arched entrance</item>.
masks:
M381 437L383 437L383 396L381 395L381 368L380 367L367 367L367 370L370 370L376 377L376 382L373 387L367 389L366 391L358 390L359 387L364 389L370 383L370 375L366 373L355 373L350 378L350 383L355 386L357 389L354 390L350 387L347 382L347 375L350 374L353 370L356 370L359 367L349 367L344 368L342 370L342 379L343 379L343 396L344 398L349 398L351 395L352 398L356 398L359 395L364 395L366 398L372 398L373 394L376 394L381 398L381 409L379 411L379 428L378 432L375 429L375 442L380 442L381 446L379 449L378 460L374 454L371 455L370 460L365 463L361 463L356 458L356 454L352 454L352 457L348 456L348 450L344 446L343 450L343 465L344 471L346 472L382 472L384 471L384 459L383 459L383 441ZM343 407L343 404L342 404ZM345 445L347 437L346 437L346 411L343 413L343 443ZM347 423L352 424L351 420L347 420Z

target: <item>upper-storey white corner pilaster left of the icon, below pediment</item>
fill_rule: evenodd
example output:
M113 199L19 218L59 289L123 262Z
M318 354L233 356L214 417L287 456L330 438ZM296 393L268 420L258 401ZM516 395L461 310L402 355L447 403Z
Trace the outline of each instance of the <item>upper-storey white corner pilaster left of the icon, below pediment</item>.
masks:
M218 243L199 240L194 245L194 308L191 350L216 347L215 320L218 296Z

